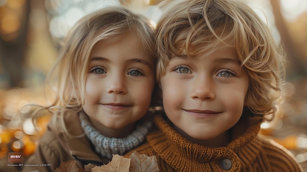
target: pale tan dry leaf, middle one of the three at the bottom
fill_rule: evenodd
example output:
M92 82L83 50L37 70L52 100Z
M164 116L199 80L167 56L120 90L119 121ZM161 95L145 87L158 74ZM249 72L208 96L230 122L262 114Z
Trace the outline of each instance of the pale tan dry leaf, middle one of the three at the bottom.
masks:
M111 162L92 168L91 172L129 172L130 158L113 154Z

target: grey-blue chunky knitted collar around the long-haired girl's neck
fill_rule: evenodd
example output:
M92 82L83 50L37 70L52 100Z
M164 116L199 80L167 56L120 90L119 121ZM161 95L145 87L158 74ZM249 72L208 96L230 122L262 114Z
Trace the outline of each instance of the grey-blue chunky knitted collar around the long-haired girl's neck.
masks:
M100 134L93 128L88 116L83 112L79 112L81 127L87 138L94 145L96 151L102 157L112 158L112 154L123 155L125 152L135 148L145 140L145 136L152 126L150 121L139 124L136 129L126 138L110 138Z

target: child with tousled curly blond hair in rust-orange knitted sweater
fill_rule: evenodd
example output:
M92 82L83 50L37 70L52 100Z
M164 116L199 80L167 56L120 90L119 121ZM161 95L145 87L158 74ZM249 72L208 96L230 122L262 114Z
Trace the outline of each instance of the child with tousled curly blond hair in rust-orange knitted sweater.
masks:
M156 28L166 115L155 116L158 130L133 151L155 155L162 172L303 171L258 135L277 111L283 62L266 25L234 0L169 7Z

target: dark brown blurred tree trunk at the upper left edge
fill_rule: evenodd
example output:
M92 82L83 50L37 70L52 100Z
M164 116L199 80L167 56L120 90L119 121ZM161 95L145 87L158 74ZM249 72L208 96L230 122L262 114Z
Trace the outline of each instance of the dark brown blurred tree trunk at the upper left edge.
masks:
M2 7L5 8L5 7ZM4 71L9 74L9 86L21 86L23 81L23 64L26 55L26 35L30 14L30 0L26 0L22 7L21 25L12 39L4 39L5 33L0 35L0 60ZM2 13L5 15L5 13Z

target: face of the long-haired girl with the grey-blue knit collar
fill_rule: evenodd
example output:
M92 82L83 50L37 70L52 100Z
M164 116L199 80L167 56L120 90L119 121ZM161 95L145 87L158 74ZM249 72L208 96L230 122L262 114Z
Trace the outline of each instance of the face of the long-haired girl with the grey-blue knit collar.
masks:
M98 130L122 129L148 111L155 65L140 39L127 32L95 46L88 66L83 110Z

